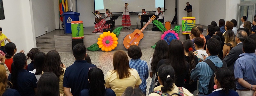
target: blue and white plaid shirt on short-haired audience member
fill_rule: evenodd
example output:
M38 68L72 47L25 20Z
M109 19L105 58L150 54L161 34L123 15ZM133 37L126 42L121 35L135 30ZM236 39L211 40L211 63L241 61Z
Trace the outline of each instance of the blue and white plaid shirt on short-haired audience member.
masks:
M140 90L143 90L147 87L146 80L148 79L148 64L144 60L140 59L131 59L129 61L130 68L134 68L138 71L142 83L140 84Z

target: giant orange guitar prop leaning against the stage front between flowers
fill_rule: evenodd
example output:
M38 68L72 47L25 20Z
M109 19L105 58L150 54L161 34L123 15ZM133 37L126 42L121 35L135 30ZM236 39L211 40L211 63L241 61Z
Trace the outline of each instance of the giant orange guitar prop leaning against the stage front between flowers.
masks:
M124 47L126 49L130 48L131 45L139 45L139 42L140 40L143 38L143 31L144 29L148 26L148 24L152 21L152 20L155 20L156 19L156 16L152 16L150 18L150 20L147 22L147 24L141 28L140 30L138 29L135 29L131 34L128 34L124 37L124 40L123 40L123 44L124 44Z

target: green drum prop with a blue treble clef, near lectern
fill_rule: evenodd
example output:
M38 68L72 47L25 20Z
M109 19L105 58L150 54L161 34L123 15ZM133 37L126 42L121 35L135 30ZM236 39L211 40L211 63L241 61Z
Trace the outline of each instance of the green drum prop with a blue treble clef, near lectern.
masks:
M71 22L72 39L84 38L84 24L83 21Z

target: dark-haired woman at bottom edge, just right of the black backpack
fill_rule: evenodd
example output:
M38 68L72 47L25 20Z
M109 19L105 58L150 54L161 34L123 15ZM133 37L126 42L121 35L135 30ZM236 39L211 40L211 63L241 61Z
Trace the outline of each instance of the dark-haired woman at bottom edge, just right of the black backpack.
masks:
M237 92L231 90L236 87L236 79L233 71L227 67L221 67L215 72L214 83L216 90L207 96L239 96Z

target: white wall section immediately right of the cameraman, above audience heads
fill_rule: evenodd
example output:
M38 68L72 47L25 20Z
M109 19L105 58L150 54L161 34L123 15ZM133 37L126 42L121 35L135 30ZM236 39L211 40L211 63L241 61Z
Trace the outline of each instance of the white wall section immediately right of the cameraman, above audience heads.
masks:
M219 26L220 19L226 21L226 0L200 0L199 4L199 24L207 26L215 21Z

